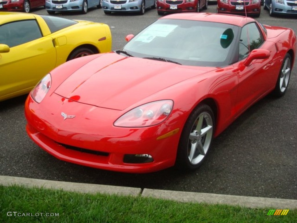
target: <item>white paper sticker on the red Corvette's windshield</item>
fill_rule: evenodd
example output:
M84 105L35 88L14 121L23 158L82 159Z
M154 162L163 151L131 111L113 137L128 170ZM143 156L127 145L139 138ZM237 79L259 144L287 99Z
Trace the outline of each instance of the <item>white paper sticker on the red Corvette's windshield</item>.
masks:
M156 24L149 27L144 31L140 36L137 37L137 41L149 43L156 36L157 37L166 37L170 32L172 32L177 25L167 25L167 24Z

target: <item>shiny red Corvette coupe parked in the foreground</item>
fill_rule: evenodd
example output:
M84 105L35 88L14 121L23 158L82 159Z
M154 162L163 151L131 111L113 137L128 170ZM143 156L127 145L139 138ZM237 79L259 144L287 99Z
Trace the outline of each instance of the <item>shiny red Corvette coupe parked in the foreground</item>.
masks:
M172 14L126 39L64 63L31 91L26 131L37 145L113 171L196 169L236 117L285 94L296 56L293 30L236 15Z

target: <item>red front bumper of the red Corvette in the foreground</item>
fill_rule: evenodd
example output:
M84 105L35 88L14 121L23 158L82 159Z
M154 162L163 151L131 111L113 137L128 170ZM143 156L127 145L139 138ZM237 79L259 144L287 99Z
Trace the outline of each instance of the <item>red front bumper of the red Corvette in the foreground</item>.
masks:
M53 93L37 104L29 95L25 104L29 137L56 158L129 173L154 172L174 165L180 132L157 139L168 133L171 126L166 123L149 128L115 127L113 121L119 111L61 99ZM59 106L53 106L57 101ZM61 111L76 117L63 120ZM153 161L124 161L131 154L149 154Z

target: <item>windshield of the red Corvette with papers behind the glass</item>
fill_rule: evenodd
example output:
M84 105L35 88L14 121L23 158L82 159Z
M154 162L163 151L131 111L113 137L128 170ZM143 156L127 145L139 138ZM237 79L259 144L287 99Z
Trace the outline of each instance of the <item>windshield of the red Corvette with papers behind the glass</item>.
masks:
M194 66L224 66L238 27L225 23L160 19L130 40L122 51L136 57Z

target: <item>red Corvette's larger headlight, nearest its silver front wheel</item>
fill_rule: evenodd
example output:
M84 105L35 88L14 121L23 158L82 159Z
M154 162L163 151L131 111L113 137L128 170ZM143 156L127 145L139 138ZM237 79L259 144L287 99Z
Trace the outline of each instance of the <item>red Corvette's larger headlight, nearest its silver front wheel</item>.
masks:
M171 113L172 100L150 102L130 110L115 121L119 127L147 127L162 123Z

